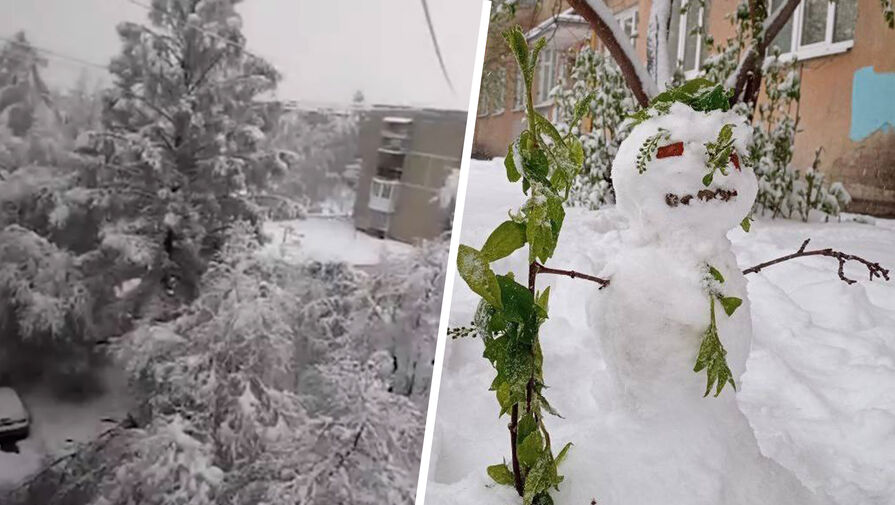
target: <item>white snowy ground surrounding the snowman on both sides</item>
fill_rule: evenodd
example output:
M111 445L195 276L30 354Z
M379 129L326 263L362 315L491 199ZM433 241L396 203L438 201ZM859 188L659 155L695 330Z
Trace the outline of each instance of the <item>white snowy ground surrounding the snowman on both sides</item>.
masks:
M518 188L506 182L502 160L473 161L461 243L481 246L506 219L506 210L522 203ZM895 221L843 221L759 220L751 233L737 229L730 237L744 268L793 252L805 238L812 239L812 247L834 247L895 267ZM571 209L549 264L599 272L617 247L619 224L615 209ZM494 270L521 272L525 263L525 254L517 252L495 263ZM836 267L830 258L803 258L747 277L754 340L738 401L762 452L808 487L842 505L892 504L895 281L867 282L866 270L849 265L846 274L861 281L848 286L836 276ZM539 288L551 286L550 319L541 330L545 379L553 386L547 397L565 417L548 423L554 446L578 442L560 468L566 480L556 503L587 505L568 499L569 488L577 487L577 495L585 489L600 505L634 505L601 495L594 476L613 461L601 460L598 455L605 451L583 435L594 419L615 414L599 335L585 317L585 302L596 295L595 286L543 277ZM477 297L459 278L454 286L451 325L465 325ZM505 458L509 436L507 420L497 418L496 400L487 391L494 372L481 353L482 344L475 340L447 343L427 504L459 497L480 504L518 500L508 487L484 489L490 485L484 469ZM630 450L651 455L650 448ZM675 467L673 457L650 462L660 471L685 471Z

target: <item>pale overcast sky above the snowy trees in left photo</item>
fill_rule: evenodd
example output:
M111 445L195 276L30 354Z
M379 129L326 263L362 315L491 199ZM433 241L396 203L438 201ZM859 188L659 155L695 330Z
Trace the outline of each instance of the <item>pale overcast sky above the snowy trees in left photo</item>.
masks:
M465 110L482 0L428 2L453 93L421 0L246 0L239 11L249 50L284 76L280 99L344 103L359 89L369 103ZM0 37L25 30L36 46L102 65L120 49L115 25L146 20L127 0L0 0L0 13ZM53 86L70 86L85 70L108 82L100 69L48 58Z

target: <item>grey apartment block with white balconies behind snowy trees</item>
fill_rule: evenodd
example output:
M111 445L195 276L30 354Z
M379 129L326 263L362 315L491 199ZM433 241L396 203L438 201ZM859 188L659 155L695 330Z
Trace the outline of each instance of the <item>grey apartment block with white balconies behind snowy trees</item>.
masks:
M466 112L373 107L358 136L357 229L403 242L450 229L453 202L441 198L460 169Z

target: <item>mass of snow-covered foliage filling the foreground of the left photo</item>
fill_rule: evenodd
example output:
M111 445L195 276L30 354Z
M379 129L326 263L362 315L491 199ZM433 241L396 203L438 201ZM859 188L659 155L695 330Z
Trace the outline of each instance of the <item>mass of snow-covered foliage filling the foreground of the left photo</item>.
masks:
M258 255L245 223L228 236L179 317L145 320L114 345L138 427L55 470L42 503L412 503L422 409L391 391L395 350L376 348L406 339L371 334L403 326L370 315L397 285L420 298L436 286L394 273L386 289L344 265ZM421 324L437 320L431 305ZM397 306L384 310L411 319L416 305ZM82 499L67 501L72 486Z

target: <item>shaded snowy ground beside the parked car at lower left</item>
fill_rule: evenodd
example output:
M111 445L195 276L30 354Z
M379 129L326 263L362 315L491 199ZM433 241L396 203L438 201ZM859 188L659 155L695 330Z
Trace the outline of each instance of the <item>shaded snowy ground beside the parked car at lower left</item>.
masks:
M104 382L105 393L86 402L59 400L41 387L19 392L31 414L31 434L18 443L18 454L0 452L0 502L4 490L123 419L129 405L127 380L121 372L108 369Z

